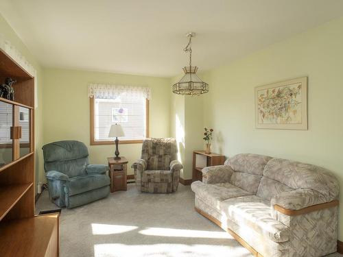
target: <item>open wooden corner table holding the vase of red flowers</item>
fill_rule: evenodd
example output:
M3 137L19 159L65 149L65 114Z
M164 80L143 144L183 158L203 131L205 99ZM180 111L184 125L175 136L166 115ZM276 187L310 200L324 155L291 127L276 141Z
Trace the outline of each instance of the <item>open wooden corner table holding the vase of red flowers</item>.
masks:
M201 167L197 167L197 155L198 160L202 160ZM205 151L193 151L193 175L192 175L192 181L200 180L202 181L202 172L201 170L204 167L209 166L215 166L215 165L222 165L225 162L225 156L222 156L221 154L206 154Z

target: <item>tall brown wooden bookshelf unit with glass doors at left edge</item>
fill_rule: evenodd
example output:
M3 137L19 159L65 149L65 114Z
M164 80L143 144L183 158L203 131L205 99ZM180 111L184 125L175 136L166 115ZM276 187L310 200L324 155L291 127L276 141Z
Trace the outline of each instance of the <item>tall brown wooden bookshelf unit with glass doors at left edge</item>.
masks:
M0 256L56 257L59 214L34 215L34 77L0 50L6 77L16 84L14 101L0 97Z

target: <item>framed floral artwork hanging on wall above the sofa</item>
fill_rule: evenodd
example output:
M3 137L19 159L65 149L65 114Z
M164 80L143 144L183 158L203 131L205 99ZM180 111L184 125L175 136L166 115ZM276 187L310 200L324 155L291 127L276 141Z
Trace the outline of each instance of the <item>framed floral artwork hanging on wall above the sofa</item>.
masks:
M307 130L307 77L255 87L255 127Z

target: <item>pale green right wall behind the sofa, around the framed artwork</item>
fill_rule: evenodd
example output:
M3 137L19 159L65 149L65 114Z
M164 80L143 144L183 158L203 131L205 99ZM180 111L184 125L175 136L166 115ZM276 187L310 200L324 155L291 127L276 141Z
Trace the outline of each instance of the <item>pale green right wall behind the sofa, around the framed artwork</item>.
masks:
M256 153L325 167L340 180L343 199L343 17L206 73L204 124L214 150ZM228 49L230 51L230 49ZM255 129L255 86L308 76L309 130ZM343 206L340 234L343 240Z

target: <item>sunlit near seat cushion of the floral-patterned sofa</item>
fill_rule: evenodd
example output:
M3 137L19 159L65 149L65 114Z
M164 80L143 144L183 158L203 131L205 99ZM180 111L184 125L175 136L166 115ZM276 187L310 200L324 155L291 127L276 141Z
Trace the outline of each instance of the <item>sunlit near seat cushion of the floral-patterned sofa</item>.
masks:
M256 195L226 199L222 202L222 213L240 227L252 228L259 234L268 236L274 242L289 241L289 228L273 219L270 201Z

